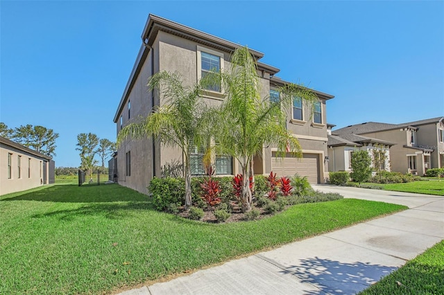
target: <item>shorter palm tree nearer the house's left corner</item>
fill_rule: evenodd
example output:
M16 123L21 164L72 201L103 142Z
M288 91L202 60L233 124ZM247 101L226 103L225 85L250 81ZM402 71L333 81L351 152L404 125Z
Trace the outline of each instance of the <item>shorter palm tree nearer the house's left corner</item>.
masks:
M200 83L191 87L182 84L179 73L162 71L151 76L148 88L157 91L164 105L156 106L153 112L139 122L130 123L121 129L117 143L128 136L132 138L159 137L165 146L180 147L185 177L185 206L191 206L191 166L189 150L207 144L209 122L207 107L200 98Z

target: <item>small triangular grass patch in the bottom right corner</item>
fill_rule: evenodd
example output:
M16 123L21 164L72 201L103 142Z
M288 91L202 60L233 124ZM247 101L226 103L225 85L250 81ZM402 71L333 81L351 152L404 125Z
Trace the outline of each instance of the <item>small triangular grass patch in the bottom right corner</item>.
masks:
M444 294L444 240L359 294Z

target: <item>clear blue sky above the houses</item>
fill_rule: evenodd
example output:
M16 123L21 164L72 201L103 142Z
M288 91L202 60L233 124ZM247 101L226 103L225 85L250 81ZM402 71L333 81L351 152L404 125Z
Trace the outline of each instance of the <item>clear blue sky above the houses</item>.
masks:
M0 121L60 134L56 166L78 166L77 134L112 122L148 13L265 53L278 76L336 98L328 123L444 116L444 1L0 1Z

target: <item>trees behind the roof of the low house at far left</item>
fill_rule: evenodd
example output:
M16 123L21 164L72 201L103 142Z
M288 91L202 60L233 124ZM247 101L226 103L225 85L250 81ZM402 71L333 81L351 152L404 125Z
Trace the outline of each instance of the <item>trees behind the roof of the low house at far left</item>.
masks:
M10 128L0 122L0 136L20 143L49 157L56 156L56 139L59 134L40 125L20 125Z

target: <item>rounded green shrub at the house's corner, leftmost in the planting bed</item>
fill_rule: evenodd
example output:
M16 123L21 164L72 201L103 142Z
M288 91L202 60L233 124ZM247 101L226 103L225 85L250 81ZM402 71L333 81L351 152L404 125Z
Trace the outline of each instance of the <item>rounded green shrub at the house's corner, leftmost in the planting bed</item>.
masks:
M158 211L164 211L169 204L185 204L185 181L181 178L153 178L148 190Z

